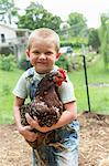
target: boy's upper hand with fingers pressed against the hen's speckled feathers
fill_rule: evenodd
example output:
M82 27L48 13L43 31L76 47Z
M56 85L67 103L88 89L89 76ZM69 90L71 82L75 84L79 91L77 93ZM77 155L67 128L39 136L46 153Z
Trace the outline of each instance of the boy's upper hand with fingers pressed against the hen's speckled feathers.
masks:
M52 131L52 127L46 127L46 126L41 127L41 126L39 125L39 123L37 123L37 118L34 117L34 120L33 120L33 118L29 115L29 113L25 114L25 117L26 117L26 121L28 121L28 123L30 124L30 126L31 126L32 128L35 128L35 129L37 129L37 131L40 131L40 132L42 132L42 133L46 133L46 132Z

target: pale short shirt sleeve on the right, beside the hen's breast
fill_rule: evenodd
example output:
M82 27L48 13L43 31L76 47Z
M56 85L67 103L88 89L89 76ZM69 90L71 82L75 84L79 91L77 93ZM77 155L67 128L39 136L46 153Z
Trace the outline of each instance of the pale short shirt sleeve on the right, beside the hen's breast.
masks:
M73 83L68 77L67 82L63 82L62 86L58 89L58 93L64 104L76 101Z

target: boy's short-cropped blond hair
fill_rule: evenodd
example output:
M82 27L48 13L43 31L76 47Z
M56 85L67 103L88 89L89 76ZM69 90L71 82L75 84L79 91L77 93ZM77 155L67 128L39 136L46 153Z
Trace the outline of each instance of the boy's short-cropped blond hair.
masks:
M54 44L56 45L56 51L59 51L59 37L58 34L48 28L40 28L40 29L35 29L29 37L29 41L28 41L28 49L30 50L32 41L34 39L36 39L37 37L43 38L48 40L51 38L51 41L54 42Z

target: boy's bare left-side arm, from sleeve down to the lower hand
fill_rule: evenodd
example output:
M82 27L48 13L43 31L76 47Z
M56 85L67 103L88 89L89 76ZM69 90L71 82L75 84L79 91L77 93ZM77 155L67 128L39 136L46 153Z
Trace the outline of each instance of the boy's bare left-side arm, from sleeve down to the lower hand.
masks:
M20 116L20 110L19 107L24 104L23 98L20 97L15 97L14 98L14 104L13 104L13 113L14 113L14 120L15 120L15 124L17 124L17 128L19 131L19 133L24 136L25 139L30 141L30 142L34 142L37 138L37 135L34 134L33 132L30 132L31 126L22 126L21 124L21 116Z

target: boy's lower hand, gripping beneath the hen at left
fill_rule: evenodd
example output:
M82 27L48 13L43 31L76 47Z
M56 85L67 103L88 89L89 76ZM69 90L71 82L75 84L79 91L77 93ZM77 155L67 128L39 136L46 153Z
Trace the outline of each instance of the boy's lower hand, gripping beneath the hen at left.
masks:
M31 132L32 127L31 126L20 126L19 127L19 133L24 136L24 138L29 142L34 142L39 135L35 134L34 132Z

